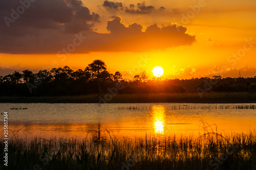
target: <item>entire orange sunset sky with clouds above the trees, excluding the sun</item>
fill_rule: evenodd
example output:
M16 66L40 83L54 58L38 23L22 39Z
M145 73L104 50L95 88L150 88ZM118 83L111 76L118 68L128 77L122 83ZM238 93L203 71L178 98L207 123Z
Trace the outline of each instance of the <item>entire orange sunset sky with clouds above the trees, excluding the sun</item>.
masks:
M0 75L103 60L133 79L256 76L256 1L0 2Z

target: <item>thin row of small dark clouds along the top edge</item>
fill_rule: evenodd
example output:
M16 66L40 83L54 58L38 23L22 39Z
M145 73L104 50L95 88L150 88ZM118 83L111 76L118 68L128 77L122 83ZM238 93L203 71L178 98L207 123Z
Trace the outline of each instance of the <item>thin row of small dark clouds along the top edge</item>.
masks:
M135 6L134 4L125 6L122 3L104 1L102 6L107 10L124 11L130 14L150 14L156 11L156 8L154 6L146 6L145 2L138 3L137 6ZM159 8L159 11L163 11L163 10L165 10L164 7Z

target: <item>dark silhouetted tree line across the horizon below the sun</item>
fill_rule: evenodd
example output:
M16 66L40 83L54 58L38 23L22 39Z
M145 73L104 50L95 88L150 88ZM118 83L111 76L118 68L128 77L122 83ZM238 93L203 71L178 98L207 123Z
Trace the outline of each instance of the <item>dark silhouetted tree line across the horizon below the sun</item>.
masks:
M215 82L215 83L209 83ZM111 74L102 60L94 60L84 69L70 67L52 68L33 73L23 70L0 76L1 96L63 96L104 94L108 88L122 84L118 93L184 93L184 92L256 92L253 78L191 78L186 80L160 78L148 79L146 71L133 80L123 79L119 71ZM200 90L199 90L200 89Z

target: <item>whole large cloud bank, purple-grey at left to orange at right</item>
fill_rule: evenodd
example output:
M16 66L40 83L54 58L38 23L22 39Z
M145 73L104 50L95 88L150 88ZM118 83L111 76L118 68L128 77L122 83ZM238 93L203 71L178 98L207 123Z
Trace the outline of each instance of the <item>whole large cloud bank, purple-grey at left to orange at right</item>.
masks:
M196 41L196 36L187 34L185 27L174 23L161 28L154 24L143 31L136 22L125 26L119 16L108 20L106 29L109 33L101 34L94 31L94 23L99 21L100 16L91 13L81 1L32 1L21 1L30 3L27 9L14 0L0 2L0 53L144 52L191 45ZM121 7L120 3L114 5ZM20 6L25 11L18 14L19 17L13 19L14 22L10 22L8 27L3 18L12 18L12 11L18 10ZM137 6L140 11L154 9L144 3Z

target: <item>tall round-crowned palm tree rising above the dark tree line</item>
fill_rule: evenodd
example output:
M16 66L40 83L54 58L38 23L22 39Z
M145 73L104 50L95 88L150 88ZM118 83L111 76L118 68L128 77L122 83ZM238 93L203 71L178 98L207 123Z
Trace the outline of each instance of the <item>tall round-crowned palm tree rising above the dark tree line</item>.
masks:
M100 72L106 70L106 64L102 60L94 60L89 67L97 73L97 79L99 82L99 96L100 96Z

